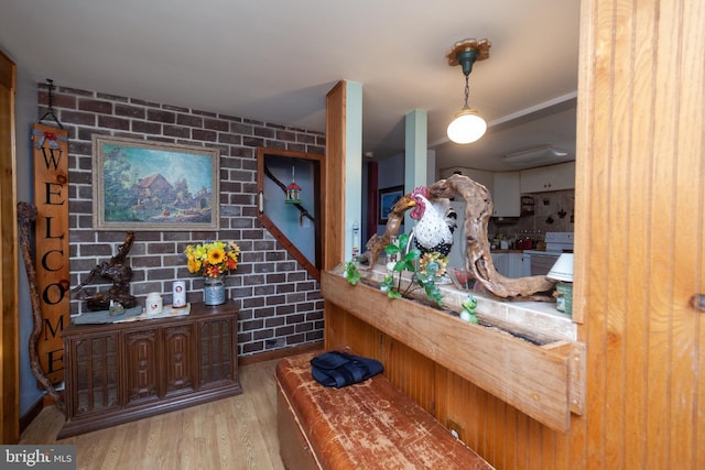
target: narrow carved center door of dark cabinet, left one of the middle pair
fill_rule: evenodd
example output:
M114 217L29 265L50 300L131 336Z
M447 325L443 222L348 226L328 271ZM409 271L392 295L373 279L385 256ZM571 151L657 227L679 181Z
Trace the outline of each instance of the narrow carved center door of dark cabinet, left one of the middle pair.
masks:
M127 405L159 398L156 331L156 328L152 328L124 334Z

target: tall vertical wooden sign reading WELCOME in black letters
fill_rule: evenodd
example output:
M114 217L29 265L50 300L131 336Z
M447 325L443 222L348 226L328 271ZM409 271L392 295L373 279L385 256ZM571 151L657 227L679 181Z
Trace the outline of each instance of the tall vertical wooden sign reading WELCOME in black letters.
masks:
M69 321L68 139L67 132L34 124L34 228L36 288L42 308L42 335L36 346L51 383L64 380L61 332Z

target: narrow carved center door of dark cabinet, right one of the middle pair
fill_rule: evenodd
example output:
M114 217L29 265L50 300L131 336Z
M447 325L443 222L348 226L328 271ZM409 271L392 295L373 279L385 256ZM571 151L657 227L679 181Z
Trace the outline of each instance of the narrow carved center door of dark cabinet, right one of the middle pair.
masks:
M163 329L164 335L164 395L194 391L194 335L192 325Z

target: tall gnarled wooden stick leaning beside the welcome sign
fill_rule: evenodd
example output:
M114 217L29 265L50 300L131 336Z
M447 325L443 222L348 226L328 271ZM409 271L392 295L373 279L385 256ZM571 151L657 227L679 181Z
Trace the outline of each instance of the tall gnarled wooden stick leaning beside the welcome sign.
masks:
M36 288L36 272L34 271L34 256L32 255L30 226L36 220L37 210L33 204L18 203L18 221L20 228L20 247L22 249L22 258L24 260L24 269L26 271L28 282L30 284L30 300L32 303L32 318L33 328L30 335L29 348L30 348L30 368L36 380L46 390L48 395L54 398L54 403L62 412L65 409L64 398L56 391L54 384L48 380L42 365L40 358L36 353L36 345L40 336L42 335L42 326L44 321L42 319L42 306L40 303L40 293Z

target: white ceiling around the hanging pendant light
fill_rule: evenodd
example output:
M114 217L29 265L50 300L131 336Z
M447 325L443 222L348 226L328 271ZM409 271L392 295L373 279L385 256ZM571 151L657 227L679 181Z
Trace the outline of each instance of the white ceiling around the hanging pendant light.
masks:
M403 152L423 109L438 167L502 171L531 146L574 155L578 17L577 0L3 0L0 48L36 81L319 131L326 92L352 80L365 152ZM465 81L445 53L466 37L492 43L469 100L490 130L457 145Z

